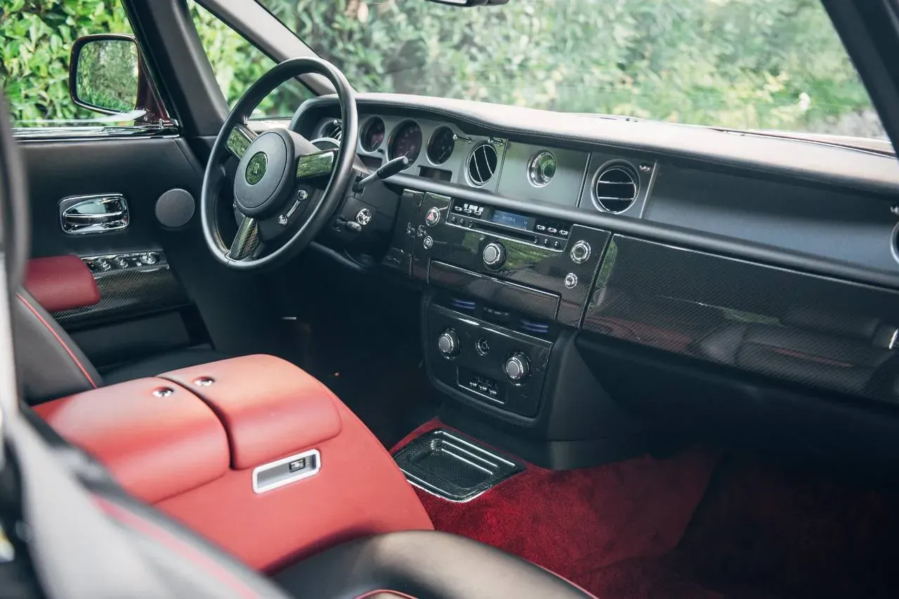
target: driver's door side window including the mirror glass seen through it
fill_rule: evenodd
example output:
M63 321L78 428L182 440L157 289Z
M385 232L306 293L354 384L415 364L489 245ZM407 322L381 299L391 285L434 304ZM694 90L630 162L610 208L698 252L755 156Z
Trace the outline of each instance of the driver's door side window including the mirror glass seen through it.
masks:
M117 0L5 0L0 7L0 86L13 127L147 124L161 110L138 76L138 48ZM76 101L69 60L86 35L121 34L81 46ZM120 38L120 39L115 39ZM141 73L142 75L142 73ZM142 86L143 84L143 86ZM152 96L153 101L148 101ZM143 106L143 103L149 106ZM80 105L79 105L80 104ZM144 110L147 109L147 110Z

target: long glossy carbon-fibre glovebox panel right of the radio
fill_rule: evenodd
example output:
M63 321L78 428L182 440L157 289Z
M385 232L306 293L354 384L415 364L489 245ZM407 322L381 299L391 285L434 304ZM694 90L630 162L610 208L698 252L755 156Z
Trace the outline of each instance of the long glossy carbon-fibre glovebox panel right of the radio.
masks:
M614 235L583 328L896 403L897 307L876 287Z

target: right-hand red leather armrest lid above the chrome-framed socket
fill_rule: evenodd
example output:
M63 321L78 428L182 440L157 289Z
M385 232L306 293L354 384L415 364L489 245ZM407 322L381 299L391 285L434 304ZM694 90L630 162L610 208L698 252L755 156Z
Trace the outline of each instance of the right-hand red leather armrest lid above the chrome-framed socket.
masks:
M235 357L160 376L199 395L218 415L236 470L271 462L341 432L332 392L277 357Z

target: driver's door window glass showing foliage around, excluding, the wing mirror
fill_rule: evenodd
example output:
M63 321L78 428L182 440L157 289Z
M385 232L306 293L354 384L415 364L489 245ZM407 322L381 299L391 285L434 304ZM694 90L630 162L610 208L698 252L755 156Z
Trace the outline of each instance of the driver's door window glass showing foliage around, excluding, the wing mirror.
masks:
M131 33L117 1L4 0L0 6L0 86L13 126L133 123L81 108L68 94L73 42L93 33Z

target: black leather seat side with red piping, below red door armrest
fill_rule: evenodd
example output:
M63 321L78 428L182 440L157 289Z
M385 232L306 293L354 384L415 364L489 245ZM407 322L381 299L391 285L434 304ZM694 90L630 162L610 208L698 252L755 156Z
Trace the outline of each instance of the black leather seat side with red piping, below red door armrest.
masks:
M25 289L13 299L12 312L16 371L29 403L102 386L75 341Z

